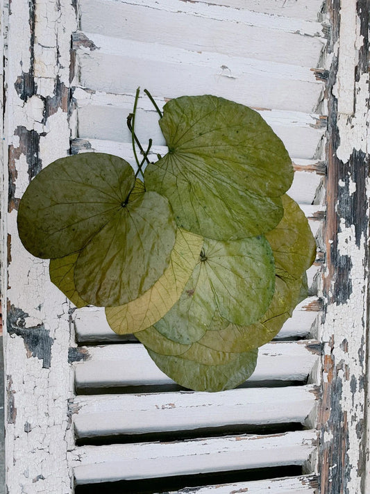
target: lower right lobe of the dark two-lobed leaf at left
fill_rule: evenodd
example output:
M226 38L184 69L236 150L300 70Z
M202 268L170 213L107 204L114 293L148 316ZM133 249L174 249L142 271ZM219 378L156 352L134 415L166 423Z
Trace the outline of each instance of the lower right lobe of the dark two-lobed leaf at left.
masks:
M162 277L176 238L169 203L134 188L124 207L81 250L74 280L96 306L120 306L143 295Z

